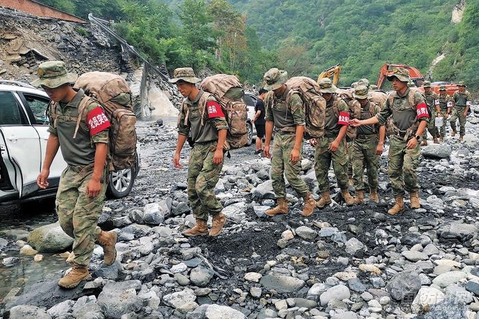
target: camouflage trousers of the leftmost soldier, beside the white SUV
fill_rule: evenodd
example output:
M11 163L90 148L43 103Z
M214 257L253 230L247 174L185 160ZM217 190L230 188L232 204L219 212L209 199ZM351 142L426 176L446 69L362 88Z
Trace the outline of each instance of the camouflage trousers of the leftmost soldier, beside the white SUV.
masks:
M68 165L60 177L58 186L56 210L62 230L73 241L73 262L88 266L92 257L94 242L101 229L98 227L98 217L105 204L107 187L105 169L101 191L95 198L86 195L86 186L93 174L93 165Z

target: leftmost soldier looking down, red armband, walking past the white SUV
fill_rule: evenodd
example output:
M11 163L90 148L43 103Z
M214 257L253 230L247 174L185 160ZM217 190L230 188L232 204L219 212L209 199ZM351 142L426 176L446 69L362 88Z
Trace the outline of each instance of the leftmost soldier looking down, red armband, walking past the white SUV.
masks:
M77 75L67 73L64 62L40 64L38 77L32 85L41 86L52 103L49 106L50 136L37 184L41 189L49 186L51 163L61 146L68 166L60 177L56 210L62 229L74 242L73 267L58 285L74 288L82 280L91 278L88 263L95 241L103 247L105 264L111 265L116 259L116 233L103 232L97 225L105 204L110 123L96 100L86 96L82 89L70 86ZM78 117L81 122L76 130Z

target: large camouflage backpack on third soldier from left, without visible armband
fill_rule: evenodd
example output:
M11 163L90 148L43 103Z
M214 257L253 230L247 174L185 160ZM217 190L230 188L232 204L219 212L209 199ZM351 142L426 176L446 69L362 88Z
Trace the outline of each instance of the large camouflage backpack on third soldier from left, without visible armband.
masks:
M289 92L286 102L292 94L297 93L305 103L307 138L320 138L324 135L324 121L326 119L326 100L321 96L320 85L309 77L292 77L286 83ZM271 97L273 94L270 95Z

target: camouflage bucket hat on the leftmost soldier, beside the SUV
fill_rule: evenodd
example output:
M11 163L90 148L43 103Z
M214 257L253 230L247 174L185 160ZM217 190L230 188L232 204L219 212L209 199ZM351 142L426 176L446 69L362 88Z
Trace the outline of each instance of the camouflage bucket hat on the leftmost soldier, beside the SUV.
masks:
M78 76L75 73L66 72L64 61L47 61L38 66L38 79L31 82L34 87L49 87L54 89L66 83L75 83Z

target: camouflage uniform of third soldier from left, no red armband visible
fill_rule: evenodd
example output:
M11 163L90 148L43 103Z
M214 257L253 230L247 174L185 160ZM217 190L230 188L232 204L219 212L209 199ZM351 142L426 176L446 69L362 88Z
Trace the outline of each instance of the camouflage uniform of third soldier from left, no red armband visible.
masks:
M289 89L286 88L281 96L268 92L265 102L265 120L274 122L274 142L271 159L271 179L273 189L278 199L285 199L285 178L289 185L303 198L309 195L305 181L299 176L301 161L291 163L289 156L296 141L296 126L305 125L305 107L299 94L291 94L288 101L286 97ZM302 144L300 147L302 158ZM284 175L283 175L284 174Z

